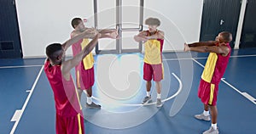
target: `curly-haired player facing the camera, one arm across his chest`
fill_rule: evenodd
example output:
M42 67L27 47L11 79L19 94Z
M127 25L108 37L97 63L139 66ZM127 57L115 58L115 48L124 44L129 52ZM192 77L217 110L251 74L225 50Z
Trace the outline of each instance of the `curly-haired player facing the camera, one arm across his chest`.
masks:
M145 21L148 31L141 31L134 36L136 42L143 42L145 46L143 79L146 81L147 96L143 99L144 103L149 103L151 99L151 81L155 81L157 99L156 106L161 107L161 80L163 80L162 49L164 44L164 32L157 29L160 20L148 18Z

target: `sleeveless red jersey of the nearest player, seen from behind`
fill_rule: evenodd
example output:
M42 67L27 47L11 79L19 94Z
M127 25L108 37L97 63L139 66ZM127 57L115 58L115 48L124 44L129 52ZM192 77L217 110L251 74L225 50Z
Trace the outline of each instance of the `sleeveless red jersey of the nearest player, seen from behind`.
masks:
M66 81L61 74L61 65L52 66L49 59L44 64L44 71L54 92L56 113L61 116L82 115L72 76Z

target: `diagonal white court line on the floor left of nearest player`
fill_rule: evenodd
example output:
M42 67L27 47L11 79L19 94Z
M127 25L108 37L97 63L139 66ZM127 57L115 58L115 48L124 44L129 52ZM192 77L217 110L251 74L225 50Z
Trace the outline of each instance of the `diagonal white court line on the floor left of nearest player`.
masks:
M15 125L13 126L12 130L10 131L10 134L15 133L15 129L16 129L16 127L18 126L18 124L19 124L19 122L20 122L20 118L21 118L21 116L22 116L24 110L26 109L26 105L27 105L29 99L30 99L31 96L32 96L32 92L34 91L34 89L35 89L35 87L36 87L36 85L37 85L37 83L38 83L39 77L40 77L40 75L42 74L43 69L44 69L44 65L42 66L41 70L39 71L38 77L37 77L37 79L34 81L34 84L33 84L33 86L32 86L32 89L31 89L31 91L29 92L29 94L28 94L28 96L27 96L27 98L26 98L26 101L25 101L25 103L23 104L22 109L17 109L17 110L15 111L15 114L14 114L12 120L11 120L11 121L15 121Z

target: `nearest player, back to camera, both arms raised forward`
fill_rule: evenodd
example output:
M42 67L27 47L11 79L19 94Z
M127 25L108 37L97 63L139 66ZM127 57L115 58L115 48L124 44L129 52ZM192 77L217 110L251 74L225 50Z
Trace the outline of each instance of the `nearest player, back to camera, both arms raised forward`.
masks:
M101 34L96 31L84 31L67 42L53 43L46 47L47 59L44 71L55 98L55 130L56 134L84 134L84 120L70 70L79 64L90 53ZM73 59L65 61L65 52L73 43L88 36L94 39Z

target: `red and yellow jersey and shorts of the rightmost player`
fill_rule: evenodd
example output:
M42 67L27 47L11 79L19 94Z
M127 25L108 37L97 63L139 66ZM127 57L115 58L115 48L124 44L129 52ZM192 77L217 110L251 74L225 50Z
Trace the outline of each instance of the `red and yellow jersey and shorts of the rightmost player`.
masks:
M230 44L226 43L226 46L229 47L231 53ZM230 53L227 56L222 56L218 53L209 53L198 89L198 97L201 98L202 103L212 106L216 105L218 83L221 81L229 63Z

